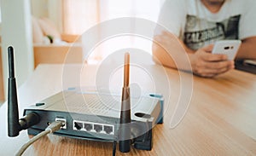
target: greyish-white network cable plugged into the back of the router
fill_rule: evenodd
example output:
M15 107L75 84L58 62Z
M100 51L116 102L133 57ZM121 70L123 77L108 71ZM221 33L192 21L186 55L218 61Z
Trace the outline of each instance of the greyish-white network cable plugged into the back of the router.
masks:
M21 156L22 153L24 153L26 151L26 148L29 147L30 145L32 145L33 142L38 141L38 139L40 139L43 136L48 135L49 133L53 133L56 130L60 130L61 127L63 127L65 124L61 121L55 121L51 124L49 124L49 126L42 131L41 133L39 133L37 136L32 137L31 140L29 140L28 142L26 142L26 144L24 144L22 147L20 147L20 150L18 151L18 153L16 153L16 156Z

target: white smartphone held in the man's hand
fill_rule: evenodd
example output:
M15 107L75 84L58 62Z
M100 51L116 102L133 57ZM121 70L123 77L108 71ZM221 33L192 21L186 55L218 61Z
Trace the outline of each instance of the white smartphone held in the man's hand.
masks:
M241 45L241 40L221 40L214 44L212 54L227 55L228 60L232 61Z

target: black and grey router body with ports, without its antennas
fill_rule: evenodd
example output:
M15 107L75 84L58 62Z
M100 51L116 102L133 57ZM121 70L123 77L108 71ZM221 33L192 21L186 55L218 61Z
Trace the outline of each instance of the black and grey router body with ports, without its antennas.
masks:
M119 141L120 95L81 93L65 90L24 110L24 115L37 113L38 124L28 129L37 135L49 123L64 121L56 135L101 142ZM153 128L163 122L163 99L159 95L131 97L131 141L137 149L151 150Z

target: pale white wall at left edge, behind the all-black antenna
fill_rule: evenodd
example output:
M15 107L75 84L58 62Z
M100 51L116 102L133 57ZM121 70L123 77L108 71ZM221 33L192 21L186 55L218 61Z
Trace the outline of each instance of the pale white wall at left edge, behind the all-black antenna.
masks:
M15 49L15 76L17 84L23 84L32 73L32 22L30 0L1 0L3 83L7 93L8 54L7 48ZM5 94L7 96L7 94Z

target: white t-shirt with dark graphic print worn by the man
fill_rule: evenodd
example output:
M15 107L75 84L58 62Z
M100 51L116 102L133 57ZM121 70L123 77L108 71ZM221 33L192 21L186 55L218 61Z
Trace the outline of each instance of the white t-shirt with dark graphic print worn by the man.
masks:
M158 23L166 27L190 49L220 39L256 36L256 0L226 0L212 14L201 0L166 0Z

